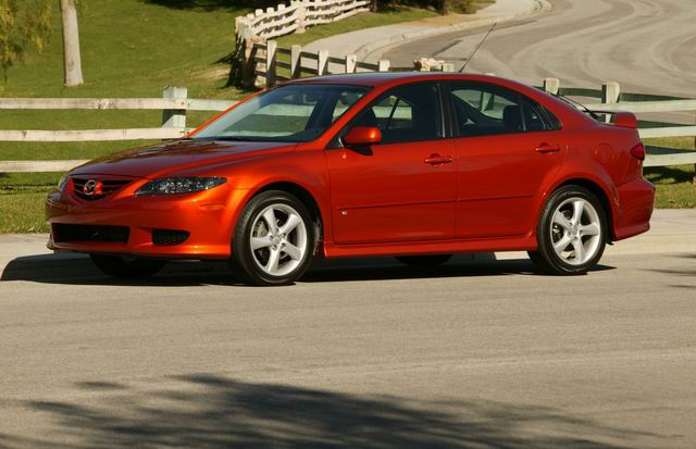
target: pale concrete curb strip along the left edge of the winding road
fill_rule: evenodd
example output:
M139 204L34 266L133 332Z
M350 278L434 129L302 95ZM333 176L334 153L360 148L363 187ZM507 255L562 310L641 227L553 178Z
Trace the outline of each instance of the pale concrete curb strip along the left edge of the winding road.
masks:
M381 50L385 47L394 46L396 43L401 43L408 40L421 39L424 37L444 35L452 32L473 29L481 26L488 26L488 25L493 25L496 22L506 23L506 22L532 16L535 14L548 12L552 9L552 5L548 0L535 0L535 3L536 5L532 11L517 13L511 16L481 18L478 21L465 22L457 25L448 25L445 27L436 28L436 29L423 29L421 32L403 33L401 35L391 36L388 39L380 40L377 42L365 43L364 46L358 48L355 54L358 57L358 61L362 61L368 54L374 53L377 50Z

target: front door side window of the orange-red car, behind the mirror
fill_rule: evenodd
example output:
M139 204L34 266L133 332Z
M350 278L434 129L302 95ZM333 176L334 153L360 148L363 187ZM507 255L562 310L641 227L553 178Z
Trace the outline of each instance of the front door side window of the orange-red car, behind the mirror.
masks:
M373 126L382 144L435 140L443 137L439 92L435 85L408 85L390 90L366 107L350 127Z

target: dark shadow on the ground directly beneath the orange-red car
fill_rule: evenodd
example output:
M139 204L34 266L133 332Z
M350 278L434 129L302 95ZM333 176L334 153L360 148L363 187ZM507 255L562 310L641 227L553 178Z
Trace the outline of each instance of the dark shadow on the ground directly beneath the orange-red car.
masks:
M593 271L612 270L597 265ZM494 254L458 254L439 266L408 266L393 258L362 258L316 261L300 283L386 280L501 275L543 275L529 259L496 260ZM241 285L225 261L172 262L158 275L137 280L115 279L102 274L89 258L80 254L49 254L16 258L7 264L0 282L28 280L69 285L197 286Z

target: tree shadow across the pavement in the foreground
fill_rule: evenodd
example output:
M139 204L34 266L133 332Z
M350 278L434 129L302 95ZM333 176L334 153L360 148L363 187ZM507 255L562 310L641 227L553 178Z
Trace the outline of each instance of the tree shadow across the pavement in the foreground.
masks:
M246 383L212 374L145 387L83 382L82 402L25 401L40 436L0 434L0 447L196 449L610 449L658 435L538 406L415 401ZM27 427L32 423L27 423Z

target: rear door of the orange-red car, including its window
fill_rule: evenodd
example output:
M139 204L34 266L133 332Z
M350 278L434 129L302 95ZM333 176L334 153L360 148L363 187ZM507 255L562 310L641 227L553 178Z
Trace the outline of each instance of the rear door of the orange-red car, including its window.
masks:
M459 158L457 237L526 233L537 194L568 152L558 121L518 92L486 83L449 85Z

